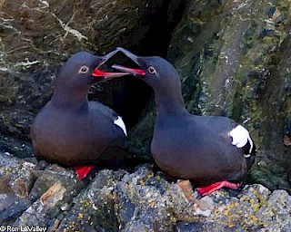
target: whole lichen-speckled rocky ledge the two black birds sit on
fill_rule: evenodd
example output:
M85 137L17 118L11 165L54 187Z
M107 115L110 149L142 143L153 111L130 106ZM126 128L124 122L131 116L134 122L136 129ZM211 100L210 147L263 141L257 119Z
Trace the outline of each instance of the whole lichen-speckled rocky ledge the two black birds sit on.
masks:
M291 197L259 184L188 200L152 164L73 169L0 153L0 224L46 231L289 231ZM189 197L189 196L188 196ZM38 230L40 231L40 230Z

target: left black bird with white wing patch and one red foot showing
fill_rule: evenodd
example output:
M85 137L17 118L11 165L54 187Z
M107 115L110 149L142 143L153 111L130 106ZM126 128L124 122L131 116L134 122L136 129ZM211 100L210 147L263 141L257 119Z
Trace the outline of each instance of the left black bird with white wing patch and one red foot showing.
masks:
M121 117L87 99L95 82L126 74L98 69L116 52L105 56L87 52L72 55L56 75L55 92L31 128L36 157L75 167L79 179L85 178L110 150L125 147L126 129Z

